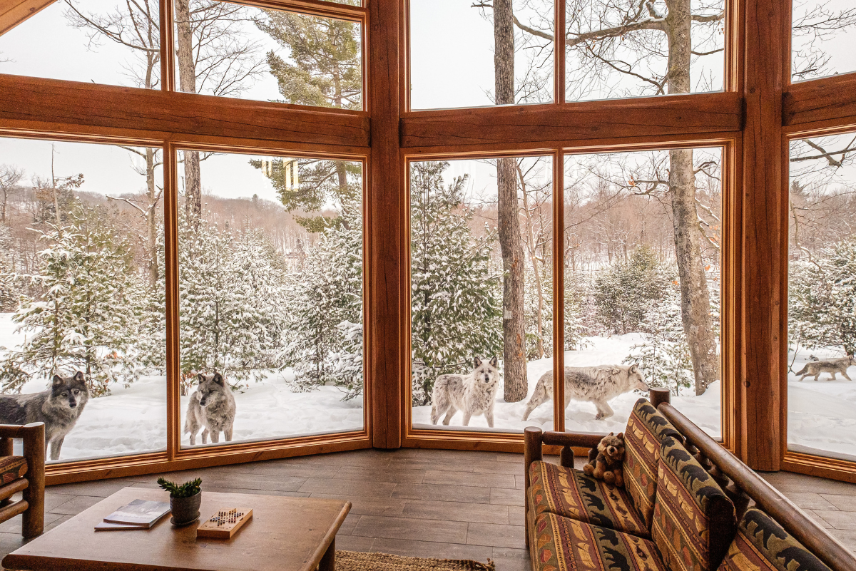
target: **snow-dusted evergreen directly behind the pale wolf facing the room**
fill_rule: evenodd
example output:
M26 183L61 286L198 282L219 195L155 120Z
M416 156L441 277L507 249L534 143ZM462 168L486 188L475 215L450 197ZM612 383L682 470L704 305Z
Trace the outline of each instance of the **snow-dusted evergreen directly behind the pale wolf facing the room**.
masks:
M448 162L410 171L413 404L431 403L437 375L467 373L502 352L502 276L491 268L496 229L470 230L466 177L443 185Z

